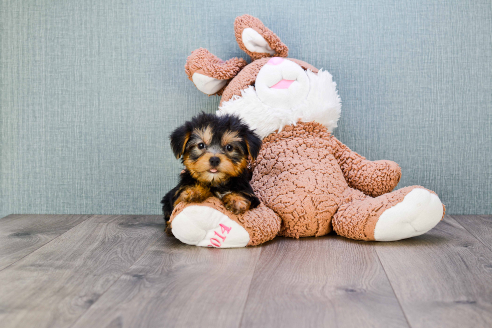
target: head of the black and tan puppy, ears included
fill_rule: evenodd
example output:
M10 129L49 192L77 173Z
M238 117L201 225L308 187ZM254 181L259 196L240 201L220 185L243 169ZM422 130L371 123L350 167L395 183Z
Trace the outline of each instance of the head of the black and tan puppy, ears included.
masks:
M258 156L261 140L236 117L202 114L171 135L171 146L177 157L182 150L183 164L195 179L216 185L240 175L248 155Z

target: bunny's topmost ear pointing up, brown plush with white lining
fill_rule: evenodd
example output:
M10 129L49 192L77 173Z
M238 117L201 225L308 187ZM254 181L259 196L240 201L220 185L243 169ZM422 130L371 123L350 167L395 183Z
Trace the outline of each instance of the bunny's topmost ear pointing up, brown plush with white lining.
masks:
M262 21L251 15L236 17L234 32L239 48L253 60L263 57L287 57L289 48Z

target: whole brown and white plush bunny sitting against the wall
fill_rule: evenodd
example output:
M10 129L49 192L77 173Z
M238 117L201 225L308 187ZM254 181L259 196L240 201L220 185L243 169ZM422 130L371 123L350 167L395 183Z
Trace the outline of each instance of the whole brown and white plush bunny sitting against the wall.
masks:
M226 248L334 230L356 240L395 241L441 220L436 193L421 186L392 191L398 164L368 161L331 135L341 105L330 73L288 58L287 46L257 18L236 18L234 31L251 64L224 62L200 48L185 70L200 91L222 95L217 115L235 114L263 138L251 181L262 204L235 215L213 197L180 203L170 220L176 238Z

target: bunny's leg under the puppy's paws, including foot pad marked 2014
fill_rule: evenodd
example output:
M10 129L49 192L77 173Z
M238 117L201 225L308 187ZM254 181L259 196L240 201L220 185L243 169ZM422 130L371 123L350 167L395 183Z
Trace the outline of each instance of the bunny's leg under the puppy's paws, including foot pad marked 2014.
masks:
M263 203L233 214L215 197L202 203L179 203L169 222L177 239L202 247L256 246L273 239L280 230L280 217Z

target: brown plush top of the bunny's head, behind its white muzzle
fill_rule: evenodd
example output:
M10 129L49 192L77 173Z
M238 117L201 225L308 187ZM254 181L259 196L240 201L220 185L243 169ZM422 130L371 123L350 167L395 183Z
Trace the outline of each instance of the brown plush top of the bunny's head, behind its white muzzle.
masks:
M302 60L294 59L294 58L287 58L287 59L298 64L304 70L309 69L315 73L318 72L318 69L316 67ZM270 58L258 59L252 62L251 64L249 64L248 66L246 66L244 69L242 69L239 72L239 74L237 74L236 77L234 77L234 79L232 79L229 82L229 84L225 87L222 93L222 98L220 99L220 105L222 105L223 102L228 101L234 95L240 96L242 90L249 87L250 85L255 84L258 72L260 71L260 69L262 69L263 66L267 64L269 60Z

